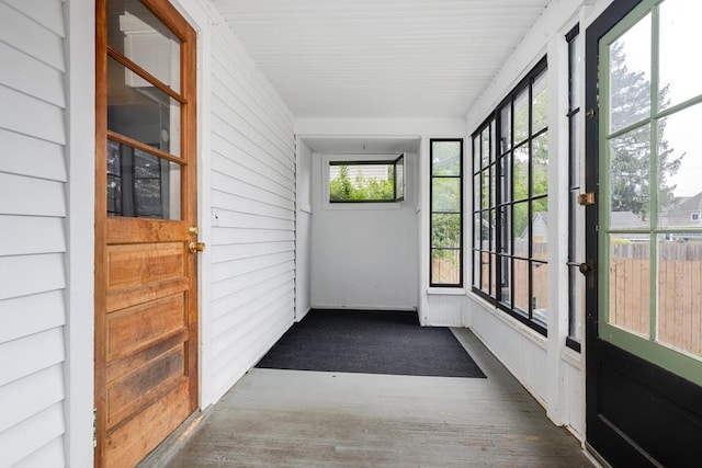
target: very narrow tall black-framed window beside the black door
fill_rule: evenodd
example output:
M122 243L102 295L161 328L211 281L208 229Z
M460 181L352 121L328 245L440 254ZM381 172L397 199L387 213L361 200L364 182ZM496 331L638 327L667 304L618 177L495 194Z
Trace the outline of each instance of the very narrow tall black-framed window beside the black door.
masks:
M584 231L585 213L578 205L578 194L582 187L580 155L580 89L581 62L579 26L567 35L568 44L568 336L566 344L580 352L582 319L585 311L585 276L579 271L580 259L585 258L585 243L579 242Z

